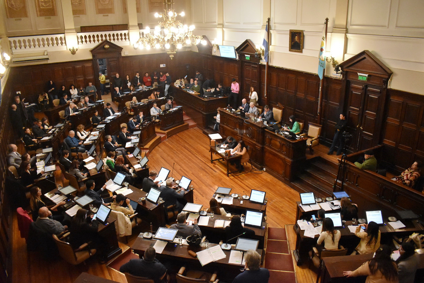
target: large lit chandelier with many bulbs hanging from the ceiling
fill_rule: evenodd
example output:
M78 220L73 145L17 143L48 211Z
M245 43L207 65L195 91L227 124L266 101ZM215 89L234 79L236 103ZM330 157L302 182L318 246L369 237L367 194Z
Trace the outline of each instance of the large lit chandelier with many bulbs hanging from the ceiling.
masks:
M155 17L163 18L163 21L158 23L153 34L151 29L146 27L144 35L134 43L134 49L163 48L173 59L173 54L183 46L206 44L203 36L196 36L192 33L195 28L194 25L188 27L176 20L177 16L184 17L184 11L179 14L176 13L173 4L173 2L166 3L166 6L169 5L170 8L165 9L165 13L155 13Z

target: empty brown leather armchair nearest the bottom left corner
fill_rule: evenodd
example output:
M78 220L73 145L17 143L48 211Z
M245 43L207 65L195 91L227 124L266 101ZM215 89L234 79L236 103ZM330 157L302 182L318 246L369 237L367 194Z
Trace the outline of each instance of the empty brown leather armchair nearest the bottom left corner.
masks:
M90 249L87 243L82 244L78 249L73 249L69 243L59 240L56 235L53 235L53 241L59 249L59 255L73 265L80 264L97 252L96 249Z

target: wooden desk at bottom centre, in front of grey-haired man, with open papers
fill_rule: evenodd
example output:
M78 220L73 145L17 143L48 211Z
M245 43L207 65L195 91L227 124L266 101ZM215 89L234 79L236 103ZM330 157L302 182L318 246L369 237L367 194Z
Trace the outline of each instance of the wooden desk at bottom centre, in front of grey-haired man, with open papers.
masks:
M134 252L137 253L141 258L142 255L144 255L145 250L148 247L153 246L155 242L156 240L148 240L142 238L142 236L139 236L134 241L134 244L132 244L131 249L133 249ZM217 244L209 243L209 247L214 247L216 245ZM232 282L232 280L234 280L234 277L236 277L240 273L240 268L243 268L243 265L232 264L228 262L230 257L229 250L223 250L223 252L226 254L226 258L208 263L205 266L201 266L198 258L193 258L191 255L188 254L188 251L191 250L193 252L200 252L203 249L205 248L200 246L191 247L185 244L179 246L179 244L168 243L165 249L163 250L162 254L156 253L156 258L159 261L169 261L171 263L174 263L177 268L179 268L178 266L182 266L182 263L185 263L190 266L190 269L203 270L211 273L218 270L219 279L225 282ZM234 249L234 247L232 247L232 249ZM262 249L257 249L257 252L259 252L260 255L263 254Z

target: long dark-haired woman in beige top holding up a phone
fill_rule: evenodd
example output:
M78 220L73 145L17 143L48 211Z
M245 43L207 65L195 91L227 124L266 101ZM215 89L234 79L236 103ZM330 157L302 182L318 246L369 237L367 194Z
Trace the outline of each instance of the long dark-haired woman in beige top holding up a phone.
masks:
M362 232L361 226L365 227L367 232ZM360 255L372 253L380 247L380 230L378 229L378 224L374 221L370 221L368 224L359 224L356 227L355 235L361 238L361 241L353 252L353 255L355 253L359 253Z

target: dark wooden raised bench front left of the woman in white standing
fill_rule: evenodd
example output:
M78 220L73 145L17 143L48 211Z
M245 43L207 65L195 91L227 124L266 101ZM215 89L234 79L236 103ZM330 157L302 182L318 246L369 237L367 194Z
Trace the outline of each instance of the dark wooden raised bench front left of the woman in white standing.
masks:
M175 93L173 97L176 104L184 106L184 111L201 129L207 129L209 125L213 125L215 122L214 116L217 114L216 109L227 105L227 97L202 98L181 90L173 84L171 84L170 88Z

